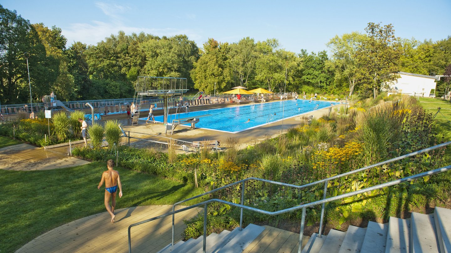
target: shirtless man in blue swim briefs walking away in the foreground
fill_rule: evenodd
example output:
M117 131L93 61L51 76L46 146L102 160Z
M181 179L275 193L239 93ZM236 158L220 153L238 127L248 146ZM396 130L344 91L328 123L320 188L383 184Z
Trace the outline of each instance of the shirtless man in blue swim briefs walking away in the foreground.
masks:
M100 187L103 185L103 181L105 181L105 207L106 211L111 215L111 223L114 223L114 208L116 206L116 193L117 187L119 185L119 198L122 197L122 185L120 184L119 172L113 170L114 162L113 160L108 160L106 162L106 167L108 167L107 171L102 173L102 179L100 180L99 186L97 189L100 190ZM111 207L110 207L110 198L111 199Z

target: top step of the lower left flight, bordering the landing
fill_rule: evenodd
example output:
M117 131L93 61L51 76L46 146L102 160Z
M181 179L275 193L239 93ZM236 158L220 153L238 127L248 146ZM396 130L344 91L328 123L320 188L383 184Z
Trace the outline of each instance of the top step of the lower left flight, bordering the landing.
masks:
M236 253L243 252L243 250L253 242L258 235L260 235L263 230L262 226L257 226L254 224L249 224L245 229L239 231L239 235L235 236L230 242L224 245L218 253Z

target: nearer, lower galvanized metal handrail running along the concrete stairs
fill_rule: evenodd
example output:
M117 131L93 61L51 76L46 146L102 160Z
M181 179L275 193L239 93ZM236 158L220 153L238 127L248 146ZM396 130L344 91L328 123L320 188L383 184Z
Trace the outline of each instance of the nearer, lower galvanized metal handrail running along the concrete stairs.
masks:
M209 203L213 203L213 202L224 203L224 204L228 204L230 206L241 208L241 210L246 209L246 210L249 210L249 211L258 212L258 213L262 213L262 214L266 214L266 215L278 215L278 214L283 214L283 213L286 213L286 212L293 212L293 211L297 211L299 209L302 209L302 219L301 219L301 228L300 228L300 233L299 233L299 248L298 248L298 253L300 253L301 249L302 249L302 240L303 240L303 237L304 237L305 214L306 214L306 209L308 207L312 207L312 206L319 205L319 204L323 204L324 205L325 203L328 203L328 202L336 201L336 200L339 200L339 199L344 199L344 198L347 198L347 197L350 197L350 196L354 196L354 195L357 195L357 194L362 194L362 193L365 193L365 192L368 192L368 191L372 191L372 190L382 189L382 188L385 188L385 187L388 187L388 186L397 185L397 184L408 182L408 181L412 181L414 179L418 179L418 178L421 178L421 177L424 177L424 176L430 176L430 175L433 175L433 174L446 172L446 171L449 171L449 170L451 170L451 165L448 165L448 166L445 166L445 167L441 167L441 168L438 168L438 169L434 169L434 170L428 171L428 172L422 172L422 173L419 173L417 175L407 176L407 177L404 177L404 178L401 178L401 179L398 179L398 180L394 180L394 181L390 181L390 182L386 182L386 183L383 183L383 184L374 185L374 186L371 186L371 187L368 187L368 188L365 188L365 189L356 190L356 191L353 191L353 192L341 194L341 195L338 195L338 196L335 196L335 197L322 199L322 200L317 200L317 201L314 201L312 203L305 203L305 204L302 204L302 205L299 205L299 206L295 206L295 207L292 207L292 208L286 208L286 209L283 209L283 210L280 210L280 211L275 211L275 212L269 212L269 211L261 210L261 209L258 209L258 208L252 208L252 207L248 207L248 206L243 205L244 180L241 180L243 182L243 190L241 192L241 195L242 195L241 204L232 203L232 202L229 202L229 201L226 201L226 200L222 200L222 199L209 199L209 200L203 201L201 203L197 203L197 204L191 205L189 207L179 209L177 211L168 212L166 214L162 214L162 215L157 216L157 217L153 217L153 218L150 218L150 219L147 219L147 220L144 220L144 221L133 223L128 228L129 253L132 252L131 228L133 226L138 226L138 225L141 225L141 224L149 222L149 221L154 221L156 219L167 217L169 215L174 215L175 213L183 212L183 211L186 211L186 210L189 210L189 209L192 209L192 208L196 208L196 207L202 206L202 205L204 206L203 253L205 253L206 240L207 240L207 233L206 233L206 227L207 227L207 205ZM256 179L257 180L258 178L249 178L249 179L246 179L246 180L250 180L250 179ZM266 181L264 179L258 179L258 180L259 181ZM239 181L239 182L241 182L241 181ZM235 184L236 183L238 183L238 182L235 182ZM275 183L283 184L283 183L280 183L280 182L275 182ZM242 211L241 211L241 219L242 219ZM242 224L241 224L241 221L240 221L240 230L242 229L241 225ZM172 245L174 245L174 243L172 243Z

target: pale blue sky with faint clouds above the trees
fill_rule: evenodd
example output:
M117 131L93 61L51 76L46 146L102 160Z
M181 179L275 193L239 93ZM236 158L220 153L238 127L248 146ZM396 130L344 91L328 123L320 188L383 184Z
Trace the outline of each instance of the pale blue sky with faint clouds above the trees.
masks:
M419 41L451 35L451 0L204 1L3 0L31 23L57 26L68 39L95 45L111 34L186 34L199 47L208 38L237 42L276 38L299 53L327 50L335 35L364 32L368 22L393 24L396 36Z

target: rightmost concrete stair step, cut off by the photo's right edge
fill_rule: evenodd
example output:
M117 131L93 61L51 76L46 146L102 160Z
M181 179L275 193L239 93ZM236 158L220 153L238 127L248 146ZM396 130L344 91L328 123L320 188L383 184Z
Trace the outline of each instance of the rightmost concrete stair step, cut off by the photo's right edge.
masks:
M434 221L440 252L451 253L451 210L435 207Z

